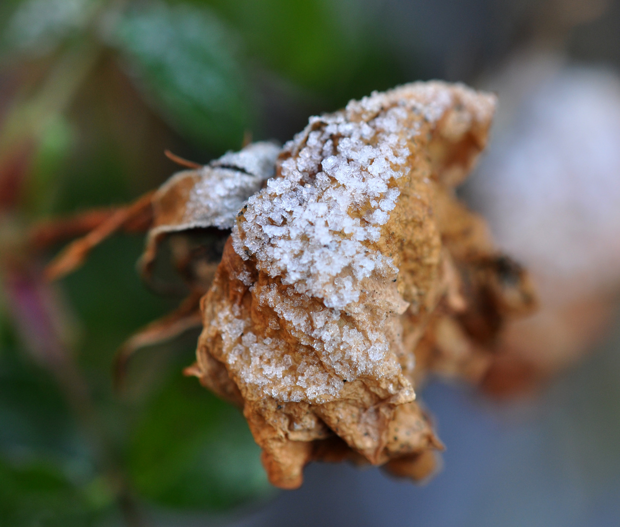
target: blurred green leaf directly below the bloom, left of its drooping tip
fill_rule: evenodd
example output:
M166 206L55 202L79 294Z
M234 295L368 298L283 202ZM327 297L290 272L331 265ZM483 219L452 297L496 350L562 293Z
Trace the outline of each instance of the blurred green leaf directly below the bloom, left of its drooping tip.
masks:
M129 467L141 494L169 507L220 510L270 491L241 413L180 372L136 427Z

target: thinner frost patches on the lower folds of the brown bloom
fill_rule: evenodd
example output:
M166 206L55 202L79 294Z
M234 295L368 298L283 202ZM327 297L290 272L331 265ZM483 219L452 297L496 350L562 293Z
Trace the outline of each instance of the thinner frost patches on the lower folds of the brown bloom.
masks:
M296 294L293 287L282 295L275 284L269 284L262 287L257 299L273 308L299 344L311 347L314 353L291 357L286 354L286 342L257 336L251 321L239 318L234 307L224 305L217 317L223 349L228 350L226 361L247 386L260 388L277 401L309 403L337 398L345 381L360 377L386 378L389 393L399 390L394 378L401 373L401 366L390 354L384 328L365 334L351 323L342 323L339 310L310 308L308 298Z

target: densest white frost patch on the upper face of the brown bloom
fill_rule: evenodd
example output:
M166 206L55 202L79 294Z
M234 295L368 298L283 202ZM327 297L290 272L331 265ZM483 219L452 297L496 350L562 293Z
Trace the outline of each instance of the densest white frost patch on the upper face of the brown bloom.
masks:
M396 274L368 242L379 240L396 206L399 190L389 185L405 173L392 165L404 165L409 149L395 132L406 118L398 107L370 123L349 122L344 112L312 118L285 146L298 156L249 199L243 233L233 232L237 253L255 255L270 276L335 309L359 300L362 279Z

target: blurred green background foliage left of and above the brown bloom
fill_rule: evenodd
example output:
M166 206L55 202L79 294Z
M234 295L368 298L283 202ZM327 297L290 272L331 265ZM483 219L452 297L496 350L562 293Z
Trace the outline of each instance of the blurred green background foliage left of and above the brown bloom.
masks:
M471 81L534 3L0 2L0 525L143 525L273 493L241 414L181 375L196 333L139 352L114 390L118 347L179 302L141 284L142 237L56 286L40 271L58 247L33 258L30 225L156 187L177 170L164 149L206 163L371 90Z

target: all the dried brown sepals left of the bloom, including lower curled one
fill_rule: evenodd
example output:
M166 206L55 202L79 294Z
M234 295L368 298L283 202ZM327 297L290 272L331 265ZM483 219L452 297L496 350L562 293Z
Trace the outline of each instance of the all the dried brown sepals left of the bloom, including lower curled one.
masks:
M208 232L206 237L201 237L199 250L195 250L187 237L172 238L173 264L192 294L173 313L148 324L123 344L117 354L117 380L122 378L126 360L136 350L172 339L200 324L198 299L215 274L221 258L219 246L228 237L239 208L273 175L279 152L280 148L272 142L258 142L240 152L228 152L205 166L166 152L167 157L192 170L175 174L157 191L141 196L128 206L87 211L44 222L32 229L30 245L37 250L86 233L48 264L45 276L49 280L73 272L95 246L118 230L148 230L141 269L144 279L150 283L153 283L153 264L163 238L198 229Z

